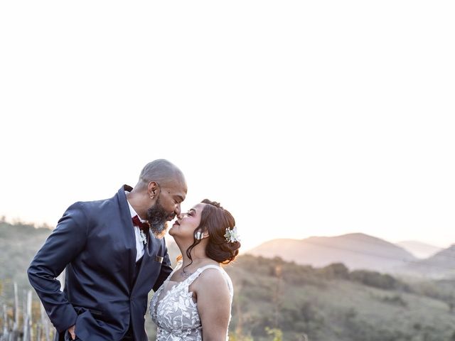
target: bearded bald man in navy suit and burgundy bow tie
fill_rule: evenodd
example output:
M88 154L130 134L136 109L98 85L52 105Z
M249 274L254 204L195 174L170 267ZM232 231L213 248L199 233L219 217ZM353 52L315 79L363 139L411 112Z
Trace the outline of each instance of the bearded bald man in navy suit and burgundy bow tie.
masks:
M160 237L186 191L183 173L161 159L144 167L134 188L68 208L28 268L55 340L147 340L148 293L171 273ZM65 268L62 292L55 278Z

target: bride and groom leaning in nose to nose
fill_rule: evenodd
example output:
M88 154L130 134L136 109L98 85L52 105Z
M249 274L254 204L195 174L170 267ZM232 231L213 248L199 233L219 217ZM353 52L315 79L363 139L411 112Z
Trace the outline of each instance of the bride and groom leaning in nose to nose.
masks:
M146 341L148 305L156 340L228 340L233 289L221 264L239 252L235 220L207 199L181 212L186 193L180 169L159 159L134 188L68 207L28 268L55 340ZM172 269L164 234L174 219Z

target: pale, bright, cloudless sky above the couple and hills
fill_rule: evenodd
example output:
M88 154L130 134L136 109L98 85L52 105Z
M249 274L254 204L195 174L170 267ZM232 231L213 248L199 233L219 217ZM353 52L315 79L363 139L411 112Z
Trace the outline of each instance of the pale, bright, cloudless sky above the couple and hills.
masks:
M156 158L242 249L455 243L453 1L2 1L0 215L55 226Z

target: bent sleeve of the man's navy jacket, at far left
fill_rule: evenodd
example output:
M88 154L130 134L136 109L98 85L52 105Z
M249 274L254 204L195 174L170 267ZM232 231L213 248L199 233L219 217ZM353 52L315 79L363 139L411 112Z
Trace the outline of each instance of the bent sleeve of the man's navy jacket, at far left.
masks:
M58 332L75 324L77 314L56 279L85 247L87 218L82 203L70 206L28 268L28 280Z

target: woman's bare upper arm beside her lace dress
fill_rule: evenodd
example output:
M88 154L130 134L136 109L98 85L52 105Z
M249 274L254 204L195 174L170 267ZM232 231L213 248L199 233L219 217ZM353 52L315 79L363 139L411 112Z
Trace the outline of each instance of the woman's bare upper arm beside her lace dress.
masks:
M230 320L228 283L217 269L200 274L195 288L204 341L225 341ZM196 283L195 283L196 284Z

